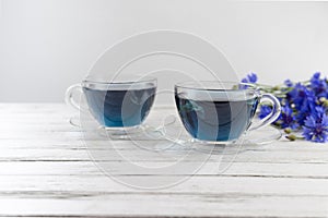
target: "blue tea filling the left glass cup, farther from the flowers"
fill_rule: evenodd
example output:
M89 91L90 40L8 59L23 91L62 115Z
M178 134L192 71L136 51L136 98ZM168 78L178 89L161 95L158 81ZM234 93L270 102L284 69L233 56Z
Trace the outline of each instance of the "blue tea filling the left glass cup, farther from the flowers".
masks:
M156 87L93 89L83 87L93 117L106 128L142 123L154 102Z

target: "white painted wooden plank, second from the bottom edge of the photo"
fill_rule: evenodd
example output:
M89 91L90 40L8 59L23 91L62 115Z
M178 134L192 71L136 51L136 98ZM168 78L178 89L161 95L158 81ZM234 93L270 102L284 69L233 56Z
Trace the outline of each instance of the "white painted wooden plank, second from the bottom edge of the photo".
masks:
M136 175L140 178L141 175ZM143 175L142 175L143 177ZM152 179L148 177L148 179ZM261 178L261 177L192 177L167 189L142 190L127 187L106 175L7 175L0 177L0 198L3 197L52 197L69 196L71 193L90 193L94 195L112 194L115 192L131 193L177 193L177 194L229 194L258 196L328 196L327 179L293 179L293 178ZM43 193L44 192L44 193Z

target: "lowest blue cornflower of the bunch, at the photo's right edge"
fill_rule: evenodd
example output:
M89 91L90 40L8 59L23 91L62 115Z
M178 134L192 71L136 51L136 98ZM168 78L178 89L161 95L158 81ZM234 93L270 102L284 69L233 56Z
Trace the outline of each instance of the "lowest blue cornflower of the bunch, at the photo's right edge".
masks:
M303 136L307 141L317 143L328 142L328 116L324 107L316 107L305 120Z

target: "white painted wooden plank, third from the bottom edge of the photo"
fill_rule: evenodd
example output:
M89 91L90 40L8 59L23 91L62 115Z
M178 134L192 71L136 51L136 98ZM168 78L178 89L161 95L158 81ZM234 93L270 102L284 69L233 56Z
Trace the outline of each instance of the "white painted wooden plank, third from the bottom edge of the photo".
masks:
M140 162L136 162L140 164ZM153 166L155 162L143 162L144 166ZM136 171L126 167L121 162L107 164L107 171L113 174L181 174L181 177L194 174L189 170L201 162L179 162L180 169L188 169L185 173L180 171ZM102 165L101 165L102 166ZM163 166L169 166L169 162L163 162ZM110 167L110 168L109 168ZM223 167L227 167L226 169ZM0 162L0 175L102 175L103 172L93 164L85 161L17 161L17 162ZM110 171L109 171L110 169ZM196 168L195 168L196 169ZM196 175L220 174L230 177L267 177L267 178L318 178L328 179L327 164L262 164L262 162L207 162Z

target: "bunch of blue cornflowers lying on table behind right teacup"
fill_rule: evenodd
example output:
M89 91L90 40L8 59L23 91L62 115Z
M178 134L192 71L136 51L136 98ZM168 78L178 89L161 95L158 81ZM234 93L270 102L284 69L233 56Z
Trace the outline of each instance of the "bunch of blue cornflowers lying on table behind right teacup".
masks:
M284 130L290 141L306 140L328 142L328 80L316 72L309 81L294 83L290 80L281 85L269 86L257 83L255 73L249 73L243 83L253 83L266 93L273 94L281 104L280 117L272 123ZM269 105L261 105L257 113L265 118L271 112Z

